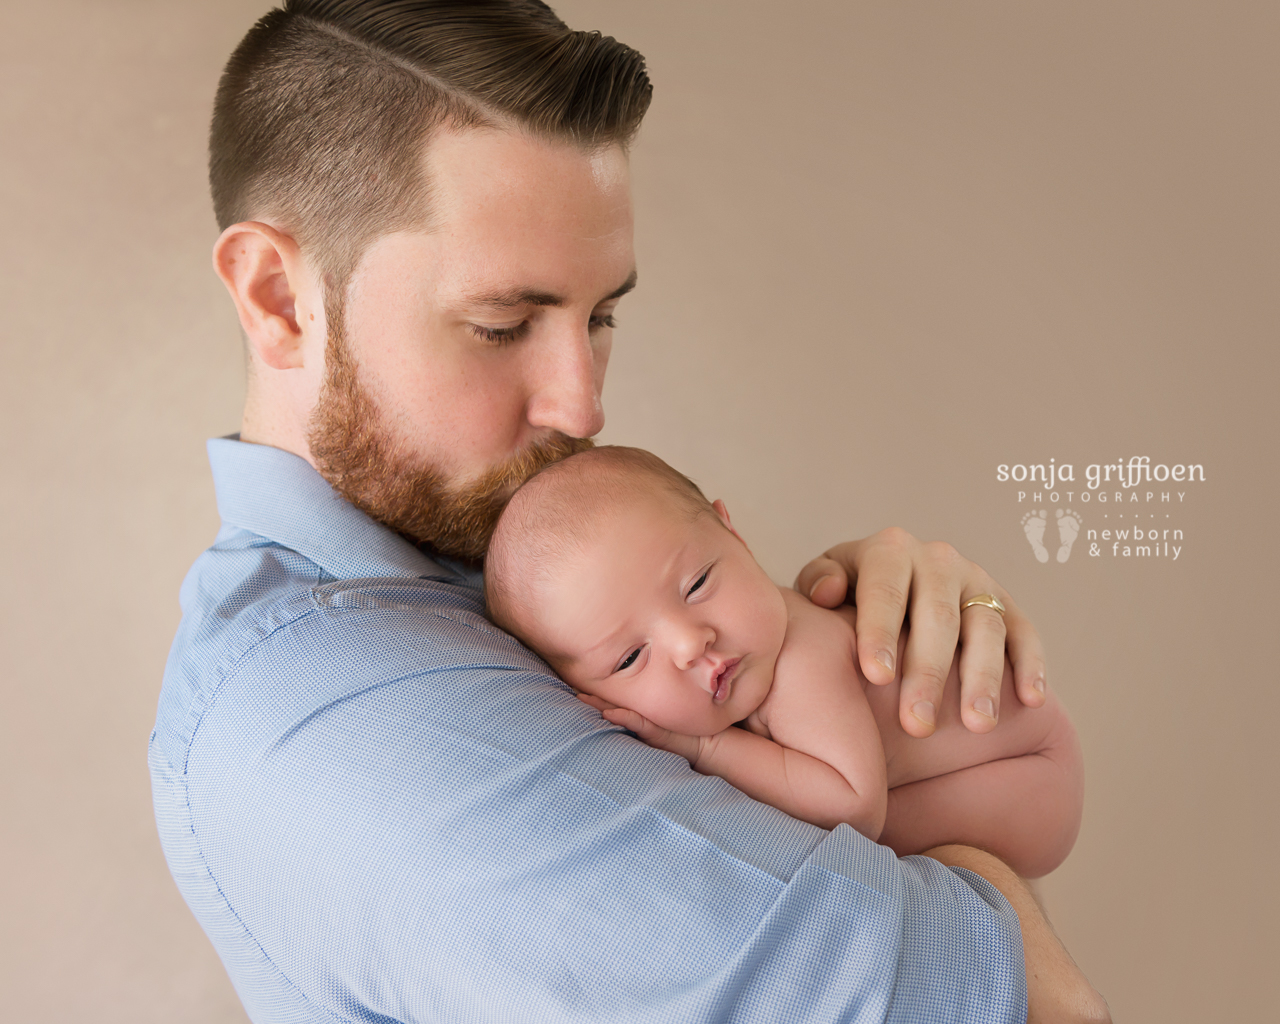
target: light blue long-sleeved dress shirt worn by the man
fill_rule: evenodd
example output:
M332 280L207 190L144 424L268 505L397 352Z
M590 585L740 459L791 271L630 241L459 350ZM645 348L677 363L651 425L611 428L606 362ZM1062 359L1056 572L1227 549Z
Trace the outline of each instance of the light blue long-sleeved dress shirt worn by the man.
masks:
M265 1021L1023 1021L1000 893L579 701L302 460L212 440L151 736L178 887Z

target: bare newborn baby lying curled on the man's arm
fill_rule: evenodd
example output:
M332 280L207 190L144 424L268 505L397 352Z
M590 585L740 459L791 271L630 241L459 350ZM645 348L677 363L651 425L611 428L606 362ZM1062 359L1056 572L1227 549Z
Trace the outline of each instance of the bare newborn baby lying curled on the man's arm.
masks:
M485 598L609 722L796 818L900 855L977 846L1027 877L1075 842L1083 767L1053 694L1024 707L1006 664L998 726L969 732L957 658L937 731L911 737L900 681L858 668L855 611L773 584L723 502L648 452L594 448L532 476L498 522Z

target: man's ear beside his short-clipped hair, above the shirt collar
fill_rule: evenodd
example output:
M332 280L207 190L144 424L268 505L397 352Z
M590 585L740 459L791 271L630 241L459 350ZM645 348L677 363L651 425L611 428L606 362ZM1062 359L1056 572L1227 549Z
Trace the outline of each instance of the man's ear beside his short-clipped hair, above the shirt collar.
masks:
M214 270L232 294L250 346L274 370L303 364L302 323L323 310L308 296L306 261L297 243L270 224L232 224L214 243Z

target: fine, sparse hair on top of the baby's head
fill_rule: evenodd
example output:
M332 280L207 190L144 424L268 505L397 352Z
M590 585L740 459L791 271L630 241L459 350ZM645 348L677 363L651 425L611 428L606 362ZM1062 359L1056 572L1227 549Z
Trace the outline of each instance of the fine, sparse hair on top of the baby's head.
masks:
M641 448L605 444L553 462L511 497L484 563L489 618L521 636L515 612L522 596L550 582L554 570L604 517L640 497L660 495L690 521L714 515L701 489L658 456Z

